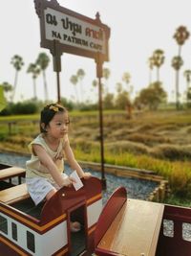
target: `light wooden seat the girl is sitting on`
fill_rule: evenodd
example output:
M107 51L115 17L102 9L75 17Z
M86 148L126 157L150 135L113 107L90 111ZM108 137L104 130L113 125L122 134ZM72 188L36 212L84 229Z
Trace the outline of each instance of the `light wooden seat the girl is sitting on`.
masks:
M0 201L6 204L12 204L26 198L30 198L26 183L0 191Z

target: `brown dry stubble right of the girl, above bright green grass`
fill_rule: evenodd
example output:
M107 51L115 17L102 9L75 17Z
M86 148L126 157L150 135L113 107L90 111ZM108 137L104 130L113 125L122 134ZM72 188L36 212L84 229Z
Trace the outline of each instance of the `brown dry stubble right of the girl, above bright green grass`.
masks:
M104 117L104 144L111 152L148 154L167 160L191 160L191 118L186 111L141 112L131 120L123 115ZM73 141L99 141L98 119L81 117L72 124ZM82 143L83 144L83 143ZM82 145L81 145L82 146Z

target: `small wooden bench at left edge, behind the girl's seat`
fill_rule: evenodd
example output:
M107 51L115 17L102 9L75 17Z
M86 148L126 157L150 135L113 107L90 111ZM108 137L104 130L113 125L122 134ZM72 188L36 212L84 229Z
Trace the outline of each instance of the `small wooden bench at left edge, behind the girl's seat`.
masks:
M10 179L11 177L18 176L18 182L21 183L21 177L25 176L25 169L12 166L10 168L0 170L0 180Z

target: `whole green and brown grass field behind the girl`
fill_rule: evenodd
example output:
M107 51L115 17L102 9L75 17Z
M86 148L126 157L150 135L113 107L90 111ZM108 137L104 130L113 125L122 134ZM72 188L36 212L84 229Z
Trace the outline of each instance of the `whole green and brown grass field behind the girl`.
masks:
M27 145L39 132L38 119L39 115L0 117L0 150L28 152ZM98 113L71 112L70 119L76 159L100 162ZM2 121L16 123L9 130ZM106 163L163 175L172 190L169 202L191 206L191 111L135 112L132 119L124 111L105 111L103 126Z

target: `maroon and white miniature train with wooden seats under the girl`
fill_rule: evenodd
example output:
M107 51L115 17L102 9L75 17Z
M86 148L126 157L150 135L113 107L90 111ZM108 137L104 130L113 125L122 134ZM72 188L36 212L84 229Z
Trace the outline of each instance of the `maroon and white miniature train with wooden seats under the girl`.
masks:
M18 177L13 185L12 177ZM127 197L117 188L102 206L101 182L82 180L34 206L25 170L0 164L0 255L190 256L191 209ZM73 233L71 221L81 230Z

